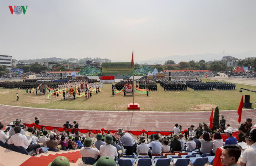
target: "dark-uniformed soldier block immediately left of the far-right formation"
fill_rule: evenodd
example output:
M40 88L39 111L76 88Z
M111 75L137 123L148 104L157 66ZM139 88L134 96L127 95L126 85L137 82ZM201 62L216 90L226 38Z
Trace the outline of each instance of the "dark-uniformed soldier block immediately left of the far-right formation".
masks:
M181 81L176 80L167 80L162 79L158 81L160 83L160 86L164 88L164 90L168 91L178 91L178 90L187 90L187 84L182 83Z

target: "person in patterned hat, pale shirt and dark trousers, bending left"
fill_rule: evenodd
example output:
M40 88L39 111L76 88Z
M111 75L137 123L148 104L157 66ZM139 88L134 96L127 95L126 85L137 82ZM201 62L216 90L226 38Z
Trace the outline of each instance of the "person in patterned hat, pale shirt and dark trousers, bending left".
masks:
M126 155L132 155L136 152L137 144L130 133L124 132L122 128L119 128L117 135L120 136L120 141L122 142L124 149L126 149Z

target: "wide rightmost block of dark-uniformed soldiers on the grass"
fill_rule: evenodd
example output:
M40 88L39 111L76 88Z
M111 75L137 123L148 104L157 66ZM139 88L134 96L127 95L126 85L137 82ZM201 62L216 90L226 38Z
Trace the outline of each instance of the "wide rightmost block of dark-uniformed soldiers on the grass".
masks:
M226 82L187 82L187 86L193 90L232 90L235 89L235 84L226 83Z

